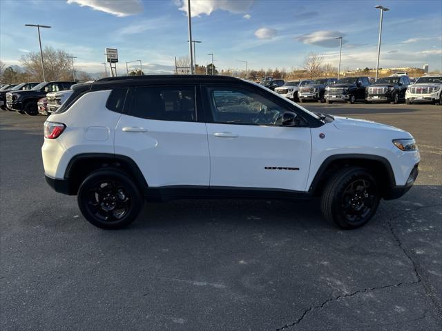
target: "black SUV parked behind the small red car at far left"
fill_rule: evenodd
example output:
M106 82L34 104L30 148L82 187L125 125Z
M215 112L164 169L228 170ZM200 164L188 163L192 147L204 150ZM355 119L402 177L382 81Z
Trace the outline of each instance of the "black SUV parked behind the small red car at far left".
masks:
M44 81L31 90L6 93L6 106L21 114L37 115L37 101L46 97L48 92L69 90L75 81Z

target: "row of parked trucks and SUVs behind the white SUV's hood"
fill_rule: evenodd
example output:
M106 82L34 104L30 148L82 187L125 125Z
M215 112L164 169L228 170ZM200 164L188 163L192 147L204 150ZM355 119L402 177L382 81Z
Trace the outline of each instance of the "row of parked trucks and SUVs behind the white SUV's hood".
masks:
M370 83L369 77L345 77L283 81L265 79L260 85L293 101L319 101L355 103L405 101L411 103L435 103L442 105L442 76L427 74L412 83L406 74L394 74Z

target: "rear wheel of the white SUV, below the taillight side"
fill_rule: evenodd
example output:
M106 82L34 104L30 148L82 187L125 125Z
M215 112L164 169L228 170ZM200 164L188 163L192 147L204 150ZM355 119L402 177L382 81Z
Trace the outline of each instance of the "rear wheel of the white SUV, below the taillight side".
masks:
M116 230L135 221L144 199L128 174L108 169L92 172L84 179L78 190L77 202L89 223L98 228Z

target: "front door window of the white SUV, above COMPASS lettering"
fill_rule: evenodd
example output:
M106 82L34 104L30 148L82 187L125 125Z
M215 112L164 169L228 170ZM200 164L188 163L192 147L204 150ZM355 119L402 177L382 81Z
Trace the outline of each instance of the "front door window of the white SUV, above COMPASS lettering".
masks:
M240 123L278 126L287 109L249 90L209 89L215 123Z

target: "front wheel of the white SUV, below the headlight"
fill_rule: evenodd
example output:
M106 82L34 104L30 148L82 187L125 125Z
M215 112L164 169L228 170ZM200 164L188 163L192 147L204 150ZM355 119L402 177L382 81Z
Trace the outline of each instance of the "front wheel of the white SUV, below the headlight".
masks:
M325 185L320 209L327 221L338 228L350 230L372 219L380 199L372 174L363 168L349 167L334 174Z

